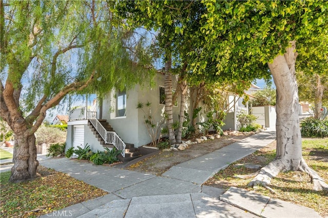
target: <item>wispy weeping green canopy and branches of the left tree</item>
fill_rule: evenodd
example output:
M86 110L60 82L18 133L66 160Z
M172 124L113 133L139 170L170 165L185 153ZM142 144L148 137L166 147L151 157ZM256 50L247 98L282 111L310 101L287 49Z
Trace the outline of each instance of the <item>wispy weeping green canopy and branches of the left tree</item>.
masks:
M67 93L102 94L146 81L145 37L114 28L110 8L100 1L2 2L2 97L11 95L4 105L11 99L22 116L32 111L32 123Z

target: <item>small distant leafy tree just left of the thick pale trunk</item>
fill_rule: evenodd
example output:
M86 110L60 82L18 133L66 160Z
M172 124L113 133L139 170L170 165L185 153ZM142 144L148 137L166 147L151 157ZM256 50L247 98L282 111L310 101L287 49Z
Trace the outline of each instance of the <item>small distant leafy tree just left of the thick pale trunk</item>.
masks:
M252 94L255 98L251 100L254 107L264 105L276 105L276 90L271 87L265 87L263 90Z

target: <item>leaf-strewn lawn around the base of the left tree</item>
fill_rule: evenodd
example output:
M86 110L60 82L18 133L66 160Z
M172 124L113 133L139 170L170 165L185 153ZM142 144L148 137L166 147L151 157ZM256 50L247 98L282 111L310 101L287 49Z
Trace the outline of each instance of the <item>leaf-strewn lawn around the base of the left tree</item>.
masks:
M39 177L10 183L10 172L0 174L1 217L37 217L89 199L107 195L97 187L44 166Z

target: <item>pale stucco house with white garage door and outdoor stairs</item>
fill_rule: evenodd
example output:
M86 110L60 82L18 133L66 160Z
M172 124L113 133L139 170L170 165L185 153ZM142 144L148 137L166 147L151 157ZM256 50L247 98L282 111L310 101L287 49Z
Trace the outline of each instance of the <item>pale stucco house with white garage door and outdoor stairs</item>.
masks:
M176 87L173 79L173 87ZM159 122L165 111L164 75L158 71L152 87L136 85L130 90L113 90L102 100L94 102L92 106L79 107L69 114L66 148L83 147L88 144L93 151L103 151L104 147L124 151L122 156L126 161L130 156L138 155L138 149L151 142L145 126L145 113L137 109L138 103L151 103L153 120ZM175 91L175 90L173 90ZM231 104L231 98L228 104ZM173 118L178 120L179 102L173 106ZM233 103L234 101L232 101ZM236 107L245 107L238 100ZM186 99L186 111L192 115L192 98ZM201 106L201 105L200 105ZM191 118L191 117L190 117ZM202 111L197 122L206 120L206 112ZM231 123L231 120L227 120ZM232 124L234 121L232 121ZM135 154L134 154L135 153Z

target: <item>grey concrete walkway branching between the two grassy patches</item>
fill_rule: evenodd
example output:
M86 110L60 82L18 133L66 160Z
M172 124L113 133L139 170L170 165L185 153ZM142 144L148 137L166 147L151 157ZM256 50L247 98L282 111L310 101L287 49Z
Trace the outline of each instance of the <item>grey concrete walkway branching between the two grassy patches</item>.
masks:
M83 180L108 195L42 217L320 217L313 209L271 199L253 191L228 191L202 183L276 138L263 131L227 147L171 167L162 176L81 163L67 158L40 164Z

